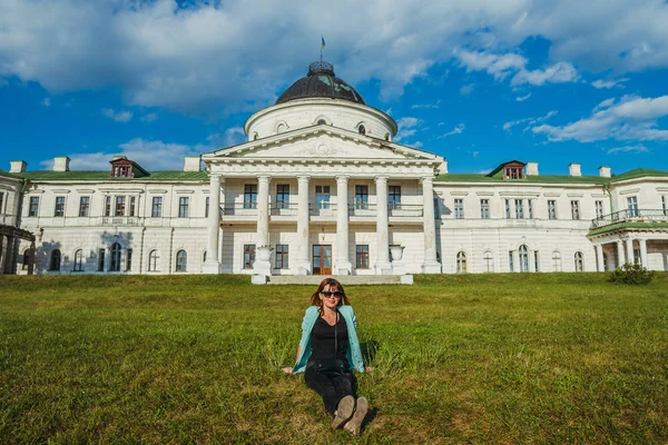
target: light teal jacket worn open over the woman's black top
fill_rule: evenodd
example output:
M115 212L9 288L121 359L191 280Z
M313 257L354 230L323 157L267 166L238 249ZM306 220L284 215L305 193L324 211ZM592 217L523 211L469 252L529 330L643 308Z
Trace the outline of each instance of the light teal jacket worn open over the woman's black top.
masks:
M357 369L360 373L364 373L364 363L362 362L362 349L360 348L360 340L357 339L357 319L355 318L355 312L352 306L338 306L338 313L343 315L345 324L348 330L348 350L347 362L351 369ZM293 374L303 373L311 357L311 332L313 325L320 317L320 307L310 306L304 314L304 320L302 320L302 339L299 340L299 356L297 363L293 367Z

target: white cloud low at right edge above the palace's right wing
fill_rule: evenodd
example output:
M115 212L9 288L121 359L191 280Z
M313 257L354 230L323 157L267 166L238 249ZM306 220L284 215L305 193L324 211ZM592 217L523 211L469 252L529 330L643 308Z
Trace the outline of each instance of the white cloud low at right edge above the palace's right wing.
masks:
M532 131L546 135L549 141L668 140L668 130L656 128L658 119L665 116L668 116L668 96L625 96L618 103L610 100L599 103L589 118L563 127L541 125Z

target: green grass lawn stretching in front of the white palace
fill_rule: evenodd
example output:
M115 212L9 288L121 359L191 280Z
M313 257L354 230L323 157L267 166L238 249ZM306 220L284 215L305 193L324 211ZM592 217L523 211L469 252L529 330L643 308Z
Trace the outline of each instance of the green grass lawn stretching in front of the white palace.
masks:
M0 277L0 443L668 442L668 275L350 286L373 407L332 432L294 362L314 288Z

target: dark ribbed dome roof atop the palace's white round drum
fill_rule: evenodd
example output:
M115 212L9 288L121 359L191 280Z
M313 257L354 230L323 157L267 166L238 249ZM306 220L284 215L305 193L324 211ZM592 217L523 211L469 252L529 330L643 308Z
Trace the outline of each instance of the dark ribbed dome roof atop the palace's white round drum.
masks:
M334 76L334 66L327 62L311 63L308 75L286 89L276 105L306 98L332 98L366 105L353 87Z

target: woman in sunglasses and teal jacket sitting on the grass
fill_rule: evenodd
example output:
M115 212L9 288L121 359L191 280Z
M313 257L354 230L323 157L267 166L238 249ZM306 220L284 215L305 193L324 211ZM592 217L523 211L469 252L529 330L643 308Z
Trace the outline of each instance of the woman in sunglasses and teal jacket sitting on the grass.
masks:
M302 322L297 362L283 370L304 372L306 386L323 397L325 408L334 416L332 428L344 425L344 429L358 435L369 404L364 397L355 400L354 394L352 369L364 372L355 312L334 278L320 284L311 304Z

